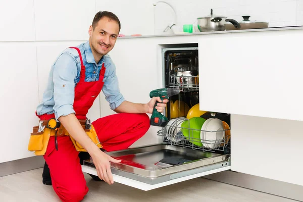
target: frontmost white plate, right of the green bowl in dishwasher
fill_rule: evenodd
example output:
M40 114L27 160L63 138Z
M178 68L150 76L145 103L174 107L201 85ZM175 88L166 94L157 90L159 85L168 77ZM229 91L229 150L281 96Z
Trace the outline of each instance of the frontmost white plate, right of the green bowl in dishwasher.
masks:
M217 148L220 146L222 139L224 138L224 127L222 121L220 119L211 120L207 125L206 131L204 132L205 147Z

